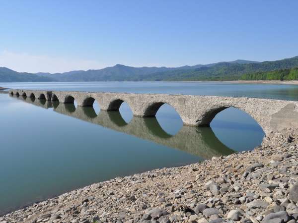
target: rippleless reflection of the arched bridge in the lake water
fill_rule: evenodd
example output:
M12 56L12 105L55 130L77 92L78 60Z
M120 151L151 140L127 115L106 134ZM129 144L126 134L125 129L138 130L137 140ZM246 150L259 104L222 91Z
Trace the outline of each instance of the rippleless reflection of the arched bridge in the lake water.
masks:
M19 99L24 99L25 102L44 109L54 108L54 111L58 113L179 149L204 159L234 152L215 136L210 127L184 125L176 135L170 135L161 128L155 117L134 116L129 123L126 123L119 111L100 111L96 114L93 107L78 106L75 108L74 104L59 104L59 102L25 97L19 97Z

